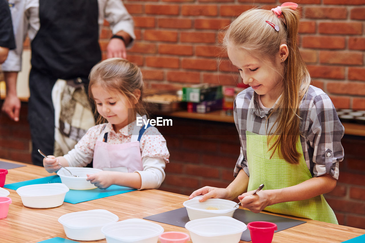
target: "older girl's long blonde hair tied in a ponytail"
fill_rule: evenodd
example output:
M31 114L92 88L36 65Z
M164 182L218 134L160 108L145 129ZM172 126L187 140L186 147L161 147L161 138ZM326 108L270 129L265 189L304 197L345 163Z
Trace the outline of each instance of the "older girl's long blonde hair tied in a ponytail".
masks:
M279 52L281 44L287 44L288 58L284 61L284 75L281 99L274 108L277 112L276 130L269 131L268 144L274 137L276 140L270 146L272 155L278 150L279 156L289 163L299 163L300 154L296 149L298 134L300 134L299 104L308 90L311 79L298 48L298 28L300 14L289 8L281 7L282 15L278 18L273 11L264 9L250 9L235 19L226 31L223 45L231 45L250 51L258 57L265 58L272 63ZM276 31L269 21L279 26ZM269 117L272 113L269 115ZM274 126L273 126L274 127ZM289 133L289 135L288 135Z

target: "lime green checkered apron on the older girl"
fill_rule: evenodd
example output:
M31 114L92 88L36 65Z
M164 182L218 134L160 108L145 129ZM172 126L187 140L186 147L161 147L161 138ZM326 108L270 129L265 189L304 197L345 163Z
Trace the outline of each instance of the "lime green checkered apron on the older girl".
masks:
M298 165L293 165L281 159L278 155L278 149L270 159L272 151L268 151L268 148L274 143L274 139L268 145L267 138L266 135L246 131L247 165L250 171L247 191L255 190L261 184L265 185L265 190L280 189L297 185L312 178L303 156L299 138L296 143L296 149L301 154ZM327 204L323 195L301 201L281 202L270 205L265 210L338 224L333 210Z

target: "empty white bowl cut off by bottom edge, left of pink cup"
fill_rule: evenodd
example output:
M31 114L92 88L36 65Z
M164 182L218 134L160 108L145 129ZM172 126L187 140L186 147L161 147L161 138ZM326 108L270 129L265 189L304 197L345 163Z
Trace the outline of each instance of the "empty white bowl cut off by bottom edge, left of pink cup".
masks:
M107 243L157 243L161 225L143 219L126 219L101 228Z

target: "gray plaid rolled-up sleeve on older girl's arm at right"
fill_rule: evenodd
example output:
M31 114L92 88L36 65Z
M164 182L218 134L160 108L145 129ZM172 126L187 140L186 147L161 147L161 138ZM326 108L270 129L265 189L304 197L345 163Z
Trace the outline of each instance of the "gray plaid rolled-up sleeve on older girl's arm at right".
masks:
M326 94L314 98L310 119L312 124L308 140L313 148L313 174L315 177L330 174L338 180L338 166L344 156L341 139L345 129Z

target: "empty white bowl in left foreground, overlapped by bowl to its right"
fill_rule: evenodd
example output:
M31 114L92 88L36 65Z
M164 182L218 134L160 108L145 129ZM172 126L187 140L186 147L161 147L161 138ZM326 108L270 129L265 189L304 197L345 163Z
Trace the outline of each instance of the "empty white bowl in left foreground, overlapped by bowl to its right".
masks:
M105 209L67 213L58 218L68 238L89 241L105 239L101 228L118 220L118 216Z

